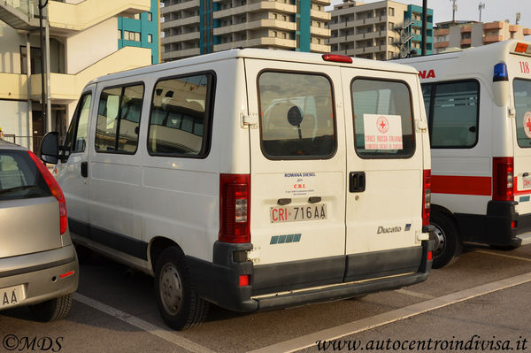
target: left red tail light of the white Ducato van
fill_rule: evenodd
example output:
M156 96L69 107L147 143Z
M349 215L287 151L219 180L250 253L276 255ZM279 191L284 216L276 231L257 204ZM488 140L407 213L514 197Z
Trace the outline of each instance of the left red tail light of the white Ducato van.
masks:
M219 175L219 242L250 242L250 175Z

